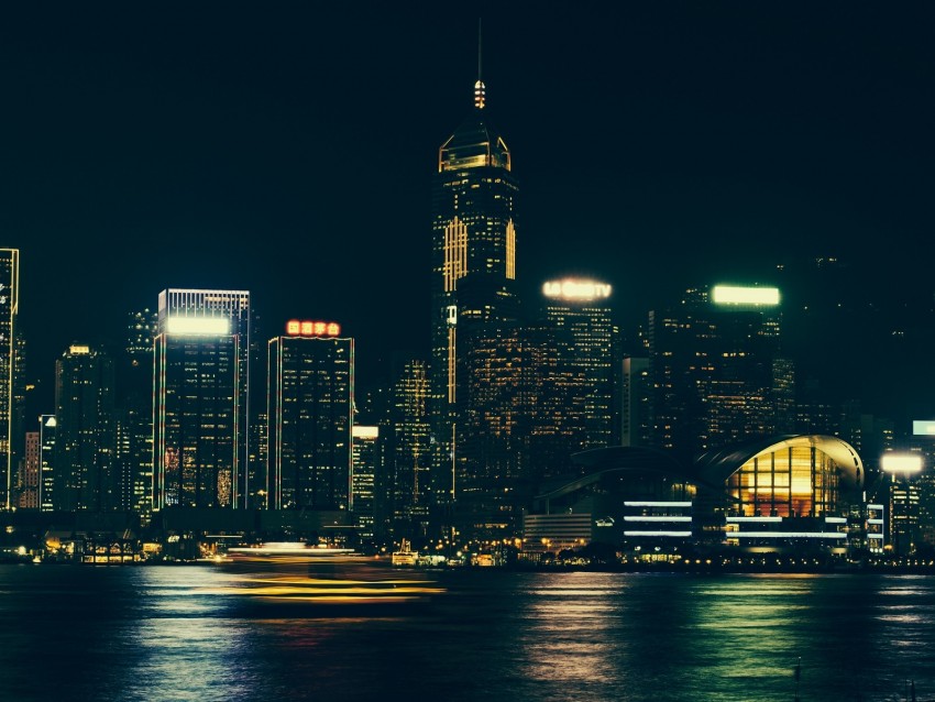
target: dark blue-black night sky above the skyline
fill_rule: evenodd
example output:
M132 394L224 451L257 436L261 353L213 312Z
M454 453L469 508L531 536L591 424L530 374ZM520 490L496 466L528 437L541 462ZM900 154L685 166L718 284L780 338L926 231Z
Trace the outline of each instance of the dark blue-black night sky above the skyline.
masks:
M267 336L338 320L365 377L425 349L430 179L479 18L530 290L600 275L629 323L829 254L931 289L931 3L4 3L30 374L172 286L250 289Z

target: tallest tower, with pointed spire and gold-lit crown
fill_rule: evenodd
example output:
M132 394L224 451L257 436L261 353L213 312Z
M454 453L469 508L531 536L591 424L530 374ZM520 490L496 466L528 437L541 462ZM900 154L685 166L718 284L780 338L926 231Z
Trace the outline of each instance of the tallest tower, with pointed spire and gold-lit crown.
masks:
M494 342L513 336L518 314L517 184L480 69L479 45L474 107L439 149L432 185L432 468L443 536L462 540L506 526L501 483L514 470L505 443L484 443L484 423L504 413L477 380L498 363Z

